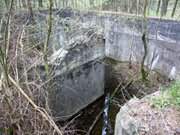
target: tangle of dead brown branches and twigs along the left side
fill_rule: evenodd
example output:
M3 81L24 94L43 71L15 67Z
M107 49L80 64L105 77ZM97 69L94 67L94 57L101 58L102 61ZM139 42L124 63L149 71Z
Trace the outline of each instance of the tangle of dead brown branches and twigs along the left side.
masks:
M62 135L48 106L46 80L42 80L37 67L37 63L43 59L43 53L33 45L24 44L29 40L27 23L22 24L22 21L22 25L18 24L19 20L15 17L12 14L7 18L5 16L4 22L8 27L0 43L1 131L7 135Z

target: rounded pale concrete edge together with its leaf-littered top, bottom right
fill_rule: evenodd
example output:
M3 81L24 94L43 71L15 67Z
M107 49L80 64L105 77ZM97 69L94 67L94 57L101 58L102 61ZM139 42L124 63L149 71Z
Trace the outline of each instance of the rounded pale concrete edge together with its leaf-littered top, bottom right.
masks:
M177 106L155 107L150 99L158 96L160 91L128 101L118 114L116 132L123 128L126 132L136 130L138 135L180 135L180 109ZM132 131L129 125L133 125Z

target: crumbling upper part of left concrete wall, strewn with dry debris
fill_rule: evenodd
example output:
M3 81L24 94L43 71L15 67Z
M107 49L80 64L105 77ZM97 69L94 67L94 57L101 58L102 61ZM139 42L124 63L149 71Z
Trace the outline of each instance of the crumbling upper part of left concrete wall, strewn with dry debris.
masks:
M55 36L51 42L53 54L49 59L51 64L58 65L58 74L105 57L105 40L101 27L84 26L74 20L65 21L60 20L56 24ZM63 58L59 57L62 54L59 50L62 49L66 52Z

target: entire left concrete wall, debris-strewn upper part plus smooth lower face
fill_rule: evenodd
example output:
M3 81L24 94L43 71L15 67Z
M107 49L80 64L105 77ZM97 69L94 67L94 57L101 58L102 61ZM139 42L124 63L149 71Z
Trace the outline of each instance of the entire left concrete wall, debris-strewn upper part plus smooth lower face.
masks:
M97 27L74 24L67 22L69 30L61 29L52 39L52 46L56 46L49 57L49 63L56 67L49 106L59 119L69 118L104 94L104 65L96 62L104 58L102 32Z

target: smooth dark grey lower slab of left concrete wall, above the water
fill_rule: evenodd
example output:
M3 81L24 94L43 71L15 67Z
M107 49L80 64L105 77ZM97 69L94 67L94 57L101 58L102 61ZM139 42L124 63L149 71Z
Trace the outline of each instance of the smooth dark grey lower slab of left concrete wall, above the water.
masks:
M49 93L53 115L66 119L95 101L104 93L104 65L89 62L56 76Z

